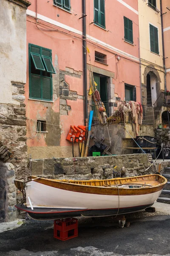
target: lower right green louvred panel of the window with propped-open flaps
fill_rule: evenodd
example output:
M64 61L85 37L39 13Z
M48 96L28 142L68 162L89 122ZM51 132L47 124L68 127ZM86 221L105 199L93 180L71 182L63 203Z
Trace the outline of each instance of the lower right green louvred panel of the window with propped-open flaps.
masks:
M42 99L51 101L52 89L51 89L51 78L42 77Z

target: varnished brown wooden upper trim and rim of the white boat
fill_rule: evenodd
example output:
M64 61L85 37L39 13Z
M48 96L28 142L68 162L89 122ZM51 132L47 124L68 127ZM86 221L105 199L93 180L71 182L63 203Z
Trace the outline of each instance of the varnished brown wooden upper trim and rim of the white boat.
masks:
M135 188L135 189L125 189L125 188L115 188L115 187L101 187L106 180L71 180L69 182L64 182L62 180L51 180L40 178L36 179L37 176L30 176L29 179L35 179L34 182L44 184L46 186L55 187L58 189L73 191L73 192L80 192L80 193L88 193L88 194L96 194L96 195L146 195L151 194L163 189L167 180L162 177L161 175L144 175L144 176L136 176L136 177L128 177L128 178L116 178L107 180L108 185L116 185L116 184L126 184L126 183L136 183L144 182L150 183L151 180L157 181L156 186L152 187L142 187L142 188ZM78 184L78 183L85 183L85 184Z

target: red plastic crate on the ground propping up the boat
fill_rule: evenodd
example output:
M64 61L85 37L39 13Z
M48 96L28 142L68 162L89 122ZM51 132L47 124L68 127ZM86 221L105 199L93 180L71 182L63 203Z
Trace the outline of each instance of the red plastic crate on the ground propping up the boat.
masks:
M78 220L67 218L54 221L54 238L62 241L78 236Z

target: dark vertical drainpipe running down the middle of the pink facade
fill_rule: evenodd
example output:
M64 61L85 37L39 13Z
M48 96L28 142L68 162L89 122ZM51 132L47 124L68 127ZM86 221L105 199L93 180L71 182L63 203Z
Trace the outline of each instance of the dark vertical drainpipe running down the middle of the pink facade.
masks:
M83 90L84 90L84 117L85 125L88 125L88 92L87 92L87 54L86 54L86 6L82 0L82 61L83 61Z

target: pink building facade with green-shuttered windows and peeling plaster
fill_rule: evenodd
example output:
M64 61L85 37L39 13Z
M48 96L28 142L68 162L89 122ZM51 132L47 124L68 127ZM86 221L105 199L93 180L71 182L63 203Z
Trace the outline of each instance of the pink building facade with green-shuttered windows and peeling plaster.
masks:
M84 103L91 72L108 115L118 99L141 101L137 2L86 0L85 16L82 1L31 0L27 9L25 86L30 157L72 156L66 137L70 125L85 125ZM83 82L83 19L88 47L87 94ZM91 105L88 95L88 111ZM78 144L74 155L79 156Z

